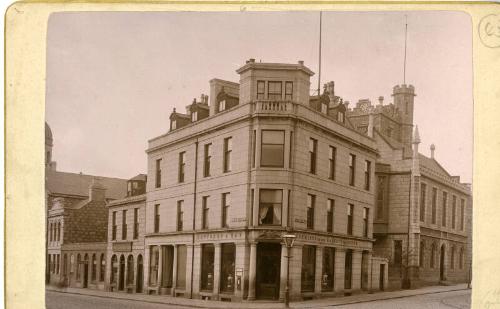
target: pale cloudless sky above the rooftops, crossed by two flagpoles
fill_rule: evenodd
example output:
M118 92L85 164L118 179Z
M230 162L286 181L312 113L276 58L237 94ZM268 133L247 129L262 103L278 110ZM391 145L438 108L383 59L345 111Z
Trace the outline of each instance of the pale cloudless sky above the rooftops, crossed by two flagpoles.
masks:
M472 29L462 12L324 12L321 83L336 95L392 102L415 86L420 152L472 181ZM239 82L245 60L318 71L318 12L56 13L49 20L46 119L57 169L130 178L146 173L147 141L208 81ZM311 88L317 87L317 74Z

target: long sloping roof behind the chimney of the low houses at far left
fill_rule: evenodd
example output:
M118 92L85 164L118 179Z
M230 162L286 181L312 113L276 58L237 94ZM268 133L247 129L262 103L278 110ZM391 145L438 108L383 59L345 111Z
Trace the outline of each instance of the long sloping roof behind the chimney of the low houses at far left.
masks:
M106 187L106 198L120 199L127 196L127 180L59 171L46 172L46 190L52 194L88 196L92 179L99 177Z

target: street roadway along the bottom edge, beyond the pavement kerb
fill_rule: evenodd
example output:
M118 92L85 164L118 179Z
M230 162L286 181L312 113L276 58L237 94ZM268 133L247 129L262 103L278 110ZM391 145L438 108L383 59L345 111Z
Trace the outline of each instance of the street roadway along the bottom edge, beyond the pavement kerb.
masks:
M470 308L471 290L452 291L403 297L396 299L372 301L341 306L317 306L315 308L369 308L369 309L411 309L411 308ZM70 293L46 292L47 309L165 309L179 308L178 305L167 305L160 303L141 302L125 299L104 298ZM298 308L297 304L291 304L292 308ZM309 307L309 306L308 306ZM232 308L231 303L221 303L221 308Z

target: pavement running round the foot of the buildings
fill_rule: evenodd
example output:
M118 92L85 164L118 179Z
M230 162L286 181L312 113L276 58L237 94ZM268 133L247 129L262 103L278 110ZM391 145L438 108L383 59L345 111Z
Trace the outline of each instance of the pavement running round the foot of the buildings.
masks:
M86 296L94 296L107 299L120 299L120 300L146 302L151 304L165 304L165 305L172 305L174 307L210 308L210 309L215 309L215 308L274 309L274 308L284 307L284 304L281 302L269 302L269 301L251 301L251 302L243 301L243 302L228 303L221 301L172 297L166 295L126 294L120 292L106 292L106 291L91 290L91 289L57 288L53 286L47 286L46 290L55 293L69 293L73 295L86 295ZM356 294L352 296L320 298L308 301L291 302L290 307L320 308L320 307L330 307L330 306L342 306L349 304L360 304L360 303L376 302L381 300L391 300L391 299L398 299L398 298L405 298L405 297L412 297L419 295L448 293L453 291L464 291L464 290L467 290L466 284L458 284L450 286L430 286L414 290L376 292L373 294ZM443 302L443 304L446 303ZM451 306L451 307L458 307L458 306Z

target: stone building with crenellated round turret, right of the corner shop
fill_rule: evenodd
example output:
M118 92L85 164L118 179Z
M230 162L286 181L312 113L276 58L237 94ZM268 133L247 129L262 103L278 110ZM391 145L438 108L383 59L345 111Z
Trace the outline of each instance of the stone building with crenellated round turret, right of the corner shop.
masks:
M389 260L391 288L470 281L472 196L470 184L450 175L418 150L415 89L393 89L394 103L359 100L347 117L373 136L379 150L373 250ZM412 132L414 135L412 136Z

